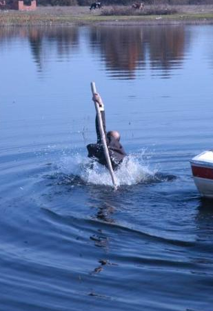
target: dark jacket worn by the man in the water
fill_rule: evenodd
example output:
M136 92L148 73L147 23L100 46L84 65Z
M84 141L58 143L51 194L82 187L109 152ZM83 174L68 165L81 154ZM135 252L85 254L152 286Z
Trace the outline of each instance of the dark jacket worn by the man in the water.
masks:
M123 146L119 141L114 139L114 137L107 137L106 131L105 131L105 112L101 111L101 117L103 121L103 130L105 132L105 139L108 146L109 154L110 154L110 160L112 162L112 168L115 170L118 165L123 161L123 158L126 156L126 153L123 149ZM101 143L101 132L99 129L99 123L98 118L95 119L95 125L96 125L96 132L97 132L97 143L90 143L90 145L87 146L88 148L88 157L90 158L96 158L99 163L102 165L107 166L107 162L105 160L105 155L103 152L103 146Z

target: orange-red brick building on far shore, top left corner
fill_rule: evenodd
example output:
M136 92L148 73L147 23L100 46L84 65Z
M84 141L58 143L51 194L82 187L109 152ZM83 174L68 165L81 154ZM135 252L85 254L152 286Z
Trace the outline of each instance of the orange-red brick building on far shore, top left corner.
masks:
M0 0L0 10L33 11L37 8L37 0Z

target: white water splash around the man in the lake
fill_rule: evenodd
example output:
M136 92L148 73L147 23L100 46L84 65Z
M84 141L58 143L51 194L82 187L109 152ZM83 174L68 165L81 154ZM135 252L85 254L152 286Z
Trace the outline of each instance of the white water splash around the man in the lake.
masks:
M123 160L115 177L118 185L134 185L136 183L146 183L154 179L156 170L152 170L143 159L144 152L140 154L130 154ZM112 185L112 180L107 168L92 161L91 159L75 154L72 157L63 157L59 163L59 170L63 174L70 174L85 183L94 185Z

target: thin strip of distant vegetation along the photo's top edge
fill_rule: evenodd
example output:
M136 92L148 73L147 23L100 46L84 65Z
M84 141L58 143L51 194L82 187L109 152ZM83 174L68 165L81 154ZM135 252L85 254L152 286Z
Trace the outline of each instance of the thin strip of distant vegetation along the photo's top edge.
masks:
M95 0L37 0L40 6L90 6ZM116 6L130 6L134 2L143 2L148 5L189 5L189 4L213 4L213 0L103 0L103 6L116 5Z

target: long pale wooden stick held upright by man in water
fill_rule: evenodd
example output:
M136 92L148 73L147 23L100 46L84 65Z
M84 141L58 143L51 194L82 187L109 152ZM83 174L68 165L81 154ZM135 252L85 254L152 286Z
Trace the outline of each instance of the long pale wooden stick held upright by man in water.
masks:
M93 95L97 93L96 86L95 86L94 82L91 82L91 89L92 89L92 94ZM114 185L114 188L116 189L117 188L116 179L115 179L115 176L114 176L114 171L112 169L112 163L111 163L111 160L110 160L110 154L109 154L108 146L107 146L107 143L106 143L106 140L105 140L105 132L103 130L103 121L102 121L102 118L101 118L101 111L100 111L100 108L99 108L99 103L97 103L97 101L94 101L94 106L95 106L95 109L97 111L97 117L98 117L98 122L99 122L99 130L100 130L100 134L101 134L101 142L102 142L102 145L103 145L103 152L104 152L104 155L105 155L105 159L106 159L106 161L108 163L108 169L109 169L110 175L112 177L112 183Z

